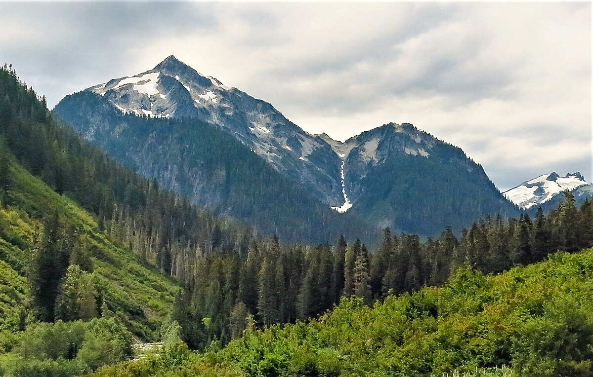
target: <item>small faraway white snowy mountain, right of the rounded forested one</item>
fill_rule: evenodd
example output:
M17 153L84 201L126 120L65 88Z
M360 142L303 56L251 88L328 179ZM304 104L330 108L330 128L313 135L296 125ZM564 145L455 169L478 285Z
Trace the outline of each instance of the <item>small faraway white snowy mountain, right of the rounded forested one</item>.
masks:
M566 173L563 177L556 172L540 175L503 192L503 195L524 210L540 205L551 209L556 207L562 193L567 190L575 195L578 204L593 197L593 183L586 182L579 172Z

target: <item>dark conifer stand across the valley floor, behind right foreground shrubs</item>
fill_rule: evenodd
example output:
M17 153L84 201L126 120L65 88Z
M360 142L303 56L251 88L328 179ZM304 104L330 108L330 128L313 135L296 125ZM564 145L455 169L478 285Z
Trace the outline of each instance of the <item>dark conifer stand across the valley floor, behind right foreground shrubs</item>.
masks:
M356 296L370 303L390 293L442 285L469 266L499 273L540 262L556 250L593 246L593 200L575 207L572 194L548 216L522 214L508 221L484 218L456 237L450 228L421 243L418 236L392 235L369 254L364 244L340 239L335 245L282 245L275 237L253 242L247 254L204 257L195 278L179 295L174 319L182 338L200 349L226 343L251 326L294 323L321 314Z

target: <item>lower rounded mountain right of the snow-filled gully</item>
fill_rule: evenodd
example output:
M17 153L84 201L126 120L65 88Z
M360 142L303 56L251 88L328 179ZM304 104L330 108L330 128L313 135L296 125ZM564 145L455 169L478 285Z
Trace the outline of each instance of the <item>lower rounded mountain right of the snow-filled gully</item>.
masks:
M380 227L432 235L484 215L518 214L482 166L412 124L385 124L345 143L318 137L343 160L349 214Z

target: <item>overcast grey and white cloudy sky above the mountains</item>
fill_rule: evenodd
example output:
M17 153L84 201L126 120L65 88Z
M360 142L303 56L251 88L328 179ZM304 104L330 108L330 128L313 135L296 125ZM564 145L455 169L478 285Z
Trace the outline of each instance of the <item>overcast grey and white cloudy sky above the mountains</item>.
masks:
M590 2L0 2L0 62L50 107L170 54L310 133L408 122L502 190L593 181Z

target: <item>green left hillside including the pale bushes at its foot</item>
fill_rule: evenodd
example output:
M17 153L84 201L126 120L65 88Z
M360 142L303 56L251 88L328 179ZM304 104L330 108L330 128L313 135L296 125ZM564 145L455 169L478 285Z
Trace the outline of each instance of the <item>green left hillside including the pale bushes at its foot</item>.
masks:
M132 336L142 341L159 339L161 324L179 289L176 283L100 231L91 214L56 194L18 165L4 146L1 149L3 158L8 159L2 181L8 177L9 185L2 190L0 208L0 375L84 373L129 357ZM42 254L49 224L57 225L60 245L68 246L64 240L69 239L70 246L66 248L68 274L58 276L62 305L56 303L55 319L59 320L55 324L39 321L42 314L31 281L38 273L34 265ZM72 274L68 295L62 279L68 282L71 270L78 275ZM58 275L55 270L50 273ZM87 291L82 290L84 282L88 282ZM85 292L90 294L87 309L82 311ZM78 337L69 339L73 333ZM101 339L108 341L97 345ZM55 349L54 341L65 342L63 353L45 351Z

